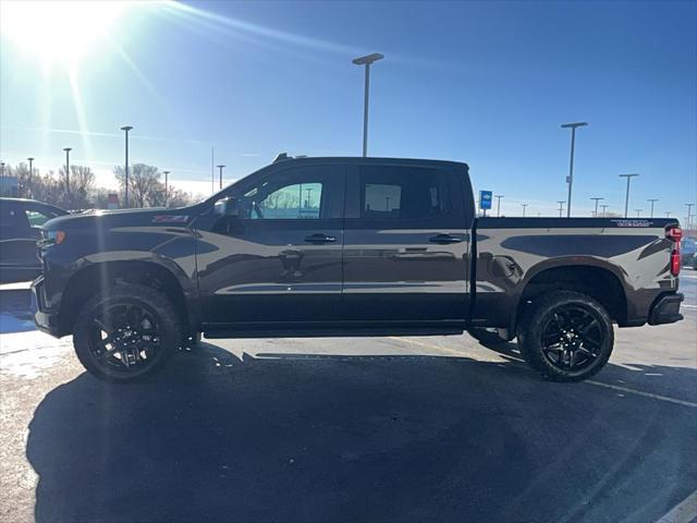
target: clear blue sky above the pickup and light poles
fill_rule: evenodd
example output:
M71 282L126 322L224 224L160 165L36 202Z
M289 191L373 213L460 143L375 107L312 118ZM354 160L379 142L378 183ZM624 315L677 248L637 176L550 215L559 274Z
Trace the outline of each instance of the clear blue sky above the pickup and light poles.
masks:
M132 161L208 194L211 147L228 180L279 151L359 155L363 70L351 59L379 51L370 155L464 160L506 215L522 203L553 215L568 170L559 125L587 121L575 215L591 196L622 210L624 172L640 173L631 209L653 197L657 215L684 217L697 199L695 2L126 3L108 25L89 20L103 13L65 22L99 28L80 49L51 46L65 33L50 20L27 45L44 10L25 24L13 3L0 8L5 162L57 169L71 146L113 184L131 124ZM80 57L47 58L57 50Z

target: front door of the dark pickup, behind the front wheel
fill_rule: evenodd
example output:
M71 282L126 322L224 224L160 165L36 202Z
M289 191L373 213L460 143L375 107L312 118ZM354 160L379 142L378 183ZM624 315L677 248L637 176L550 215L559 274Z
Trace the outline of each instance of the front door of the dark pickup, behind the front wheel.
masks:
M231 187L225 196L235 198L239 216L213 216L197 228L205 323L301 327L339 319L344 172L277 166Z

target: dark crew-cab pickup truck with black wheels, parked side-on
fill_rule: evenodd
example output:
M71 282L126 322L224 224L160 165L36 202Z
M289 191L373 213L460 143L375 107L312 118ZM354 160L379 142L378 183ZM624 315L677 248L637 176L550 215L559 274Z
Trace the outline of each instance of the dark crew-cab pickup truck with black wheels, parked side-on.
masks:
M674 219L476 218L465 163L288 158L192 207L42 228L36 324L129 381L185 340L517 338L560 381L608 362L613 324L682 319Z

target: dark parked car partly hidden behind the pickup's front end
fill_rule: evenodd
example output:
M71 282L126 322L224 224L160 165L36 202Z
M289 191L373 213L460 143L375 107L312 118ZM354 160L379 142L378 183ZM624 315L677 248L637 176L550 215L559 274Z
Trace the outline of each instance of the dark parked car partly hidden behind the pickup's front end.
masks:
M40 228L65 214L34 199L0 198L0 283L28 281L41 273L36 255Z

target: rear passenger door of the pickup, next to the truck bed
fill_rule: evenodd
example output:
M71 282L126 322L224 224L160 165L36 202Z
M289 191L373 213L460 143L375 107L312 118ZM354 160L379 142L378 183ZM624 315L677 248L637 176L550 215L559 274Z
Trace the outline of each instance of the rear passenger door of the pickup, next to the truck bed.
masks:
M344 319L417 326L466 318L470 223L464 182L465 172L430 163L351 167Z

